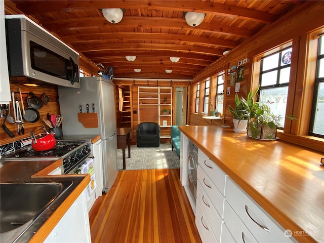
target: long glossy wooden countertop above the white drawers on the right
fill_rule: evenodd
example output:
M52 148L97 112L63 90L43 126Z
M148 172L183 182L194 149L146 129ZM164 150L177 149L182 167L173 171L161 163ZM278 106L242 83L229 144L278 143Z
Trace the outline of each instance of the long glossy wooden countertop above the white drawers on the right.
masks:
M324 241L321 152L221 126L179 129L299 242Z

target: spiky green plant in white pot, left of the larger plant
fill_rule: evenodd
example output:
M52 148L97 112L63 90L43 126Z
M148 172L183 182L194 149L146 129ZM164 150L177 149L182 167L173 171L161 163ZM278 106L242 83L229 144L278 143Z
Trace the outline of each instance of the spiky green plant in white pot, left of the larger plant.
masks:
M235 107L228 105L228 109L233 115L233 124L235 133L247 133L247 126L249 120L249 114L246 106L246 100L241 97L238 98L237 93L235 93Z

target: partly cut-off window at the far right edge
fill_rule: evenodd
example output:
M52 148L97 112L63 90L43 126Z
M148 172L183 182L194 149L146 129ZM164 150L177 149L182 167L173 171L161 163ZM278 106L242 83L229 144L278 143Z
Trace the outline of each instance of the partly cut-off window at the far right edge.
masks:
M317 68L309 135L324 138L324 42L318 39Z

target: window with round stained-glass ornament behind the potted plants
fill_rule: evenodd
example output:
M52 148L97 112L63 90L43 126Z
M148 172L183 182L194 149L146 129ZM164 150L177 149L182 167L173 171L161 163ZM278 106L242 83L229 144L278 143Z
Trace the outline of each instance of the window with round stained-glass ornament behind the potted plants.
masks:
M291 57L289 47L261 59L259 102L271 103L271 111L282 117L281 129L285 124Z

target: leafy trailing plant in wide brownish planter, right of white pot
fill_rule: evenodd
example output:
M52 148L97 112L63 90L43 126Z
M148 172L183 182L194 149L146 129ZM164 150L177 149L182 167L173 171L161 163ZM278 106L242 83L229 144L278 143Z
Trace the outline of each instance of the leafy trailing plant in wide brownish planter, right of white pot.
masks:
M259 91L259 88L252 92L250 91L248 99L242 99L249 116L248 136L258 139L275 139L277 127L280 125L281 116L271 112L270 105L273 102L268 101L267 104L254 101L253 97ZM286 116L294 120L293 116Z

